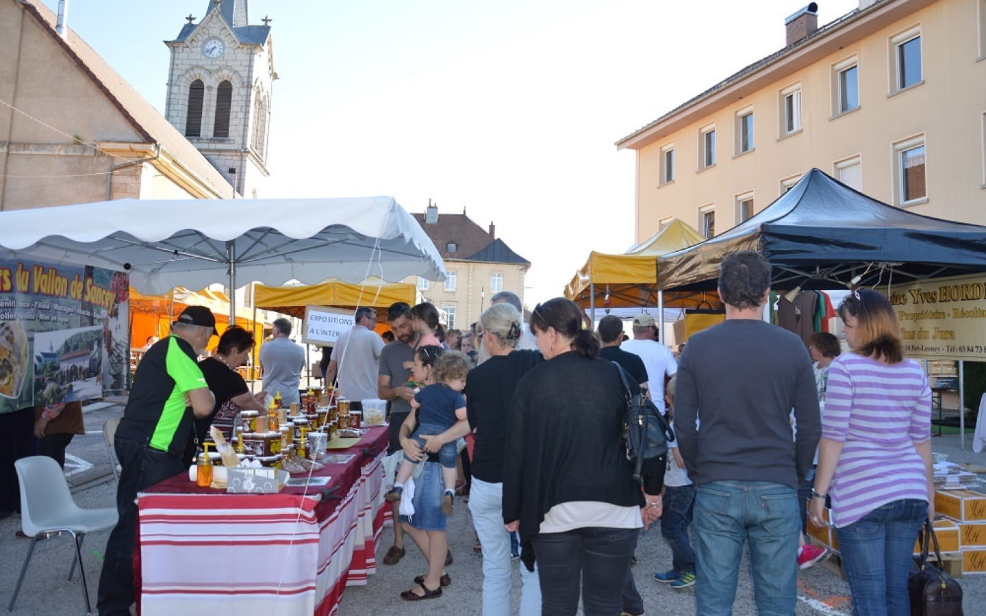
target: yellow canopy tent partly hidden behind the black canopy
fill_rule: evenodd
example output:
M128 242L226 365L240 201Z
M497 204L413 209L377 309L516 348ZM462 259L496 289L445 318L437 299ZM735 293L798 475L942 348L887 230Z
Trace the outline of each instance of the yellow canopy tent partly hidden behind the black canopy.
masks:
M565 297L581 308L658 307L658 257L705 238L686 223L673 219L655 236L624 254L590 252L589 260L565 288ZM716 293L665 292L667 308L712 308Z

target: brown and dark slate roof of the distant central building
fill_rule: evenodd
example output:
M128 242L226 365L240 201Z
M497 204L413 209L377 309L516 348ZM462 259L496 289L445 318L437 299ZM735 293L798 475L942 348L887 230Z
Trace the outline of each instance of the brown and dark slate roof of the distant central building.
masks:
M511 250L505 241L494 238L465 214L438 214L437 223L426 223L424 214L412 216L435 243L443 259L530 265L530 261ZM453 242L456 251L450 252L449 244Z

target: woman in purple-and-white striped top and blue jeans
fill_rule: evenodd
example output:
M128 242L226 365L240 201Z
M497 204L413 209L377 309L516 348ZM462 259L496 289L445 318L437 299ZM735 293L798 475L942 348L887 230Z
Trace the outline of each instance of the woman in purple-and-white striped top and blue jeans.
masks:
M831 498L854 616L909 614L907 576L925 518L934 517L931 389L905 360L900 326L876 291L839 306L851 353L832 361L810 515Z

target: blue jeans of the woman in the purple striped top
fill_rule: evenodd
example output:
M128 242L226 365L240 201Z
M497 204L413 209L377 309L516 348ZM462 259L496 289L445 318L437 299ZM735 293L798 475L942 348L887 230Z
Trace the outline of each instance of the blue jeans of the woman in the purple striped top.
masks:
M853 593L853 616L911 613L907 576L927 515L928 503L903 499L835 530Z

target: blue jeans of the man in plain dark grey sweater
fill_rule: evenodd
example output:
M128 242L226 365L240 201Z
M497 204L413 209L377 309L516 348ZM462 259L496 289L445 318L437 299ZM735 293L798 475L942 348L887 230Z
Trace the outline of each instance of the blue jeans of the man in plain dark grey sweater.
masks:
M702 616L733 613L742 546L749 544L760 616L791 616L798 601L798 496L766 481L698 486L694 528L695 606Z

